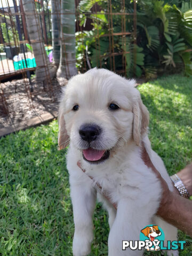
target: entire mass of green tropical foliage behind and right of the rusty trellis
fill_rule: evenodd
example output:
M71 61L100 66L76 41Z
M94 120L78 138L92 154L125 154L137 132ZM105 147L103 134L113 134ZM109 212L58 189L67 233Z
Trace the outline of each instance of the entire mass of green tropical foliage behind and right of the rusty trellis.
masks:
M108 1L96 1L99 15L91 13L95 8L95 1L82 0L78 12L82 13L82 23L86 22L86 14L90 12L93 29L81 34L84 46L77 43L77 54L83 47L88 46L92 67L100 66L111 69L110 40L103 37L108 34L109 22L113 22L113 32L122 31L121 18L113 15L109 20L103 10L107 10ZM115 58L115 69L122 69L123 58L127 76L141 76L148 79L157 76L159 71L178 68L184 69L186 75L192 75L191 47L192 47L192 1L147 0L137 4L137 46L134 46L133 34L126 37L114 37L114 53L130 52ZM176 5L177 6L176 6ZM111 10L116 12L133 13L132 1L126 2L125 9L117 0L111 1ZM114 17L115 16L115 17ZM126 17L125 31L132 31L132 16ZM78 34L79 35L79 34ZM86 45L85 45L86 44ZM134 63L136 54L136 63ZM80 56L80 54L78 54ZM78 56L78 57L79 57ZM101 56L101 57L99 57Z

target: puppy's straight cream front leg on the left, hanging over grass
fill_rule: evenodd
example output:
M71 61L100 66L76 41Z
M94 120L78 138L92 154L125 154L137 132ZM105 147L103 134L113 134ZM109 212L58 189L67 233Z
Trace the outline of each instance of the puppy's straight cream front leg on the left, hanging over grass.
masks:
M75 223L73 254L74 256L85 256L91 251L91 242L93 239L92 217L96 192L92 185L85 182L82 184L73 183L70 185L70 188Z

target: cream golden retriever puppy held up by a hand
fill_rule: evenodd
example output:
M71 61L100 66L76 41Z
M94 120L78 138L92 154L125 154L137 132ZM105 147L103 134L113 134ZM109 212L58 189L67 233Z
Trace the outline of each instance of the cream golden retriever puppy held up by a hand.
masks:
M141 141L171 190L173 186L162 159L151 149L147 135L149 113L134 84L134 80L94 68L71 78L63 90L58 143L60 149L69 144L67 169L75 256L90 253L97 197L93 180L79 169L78 161L118 206L116 211L99 196L109 213L109 256L142 254L138 250L123 251L122 240L139 240L141 229L151 224L164 230L165 241L177 240L177 229L155 215L162 189L154 172L141 159ZM178 255L177 251L167 253Z

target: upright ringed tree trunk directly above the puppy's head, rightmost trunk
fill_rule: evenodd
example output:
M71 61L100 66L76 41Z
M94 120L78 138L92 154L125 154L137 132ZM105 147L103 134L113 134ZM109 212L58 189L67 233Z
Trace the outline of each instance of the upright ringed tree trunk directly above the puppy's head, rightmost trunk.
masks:
M61 47L57 77L68 79L75 74L75 0L61 0Z

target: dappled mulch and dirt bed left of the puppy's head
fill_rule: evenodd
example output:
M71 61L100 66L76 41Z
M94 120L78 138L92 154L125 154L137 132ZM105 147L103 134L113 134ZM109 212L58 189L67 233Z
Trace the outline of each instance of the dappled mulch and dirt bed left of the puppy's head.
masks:
M28 79L1 83L0 129L58 111L61 87L66 82L66 79L54 78L47 83L29 83Z

